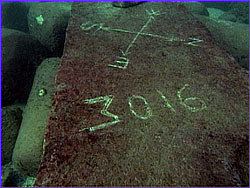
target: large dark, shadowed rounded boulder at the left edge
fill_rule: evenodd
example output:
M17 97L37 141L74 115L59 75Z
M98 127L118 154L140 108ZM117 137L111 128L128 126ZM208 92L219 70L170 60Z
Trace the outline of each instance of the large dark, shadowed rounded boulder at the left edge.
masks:
M36 67L48 56L46 48L23 32L1 30L1 105L26 102Z

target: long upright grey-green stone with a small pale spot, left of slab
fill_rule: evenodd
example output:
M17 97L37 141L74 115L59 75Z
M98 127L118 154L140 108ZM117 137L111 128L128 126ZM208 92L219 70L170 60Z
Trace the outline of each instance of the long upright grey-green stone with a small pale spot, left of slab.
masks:
M45 125L48 121L55 72L59 58L50 58L38 67L30 96L23 112L23 121L13 152L13 165L21 173L36 176L43 147ZM38 96L45 89L44 96Z

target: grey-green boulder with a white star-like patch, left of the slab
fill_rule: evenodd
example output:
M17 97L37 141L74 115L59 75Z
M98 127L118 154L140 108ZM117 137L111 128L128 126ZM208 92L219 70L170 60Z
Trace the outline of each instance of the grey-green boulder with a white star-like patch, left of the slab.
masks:
M46 46L52 56L62 56L70 10L71 2L41 2L29 9L30 34ZM40 24L36 19L39 16L43 19Z

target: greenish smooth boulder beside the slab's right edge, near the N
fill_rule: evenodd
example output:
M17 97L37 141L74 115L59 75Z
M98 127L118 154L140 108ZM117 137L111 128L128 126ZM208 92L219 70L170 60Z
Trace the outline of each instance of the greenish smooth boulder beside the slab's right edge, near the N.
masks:
M233 55L240 66L248 70L249 25L205 16L197 16L197 18L206 25L215 40Z

